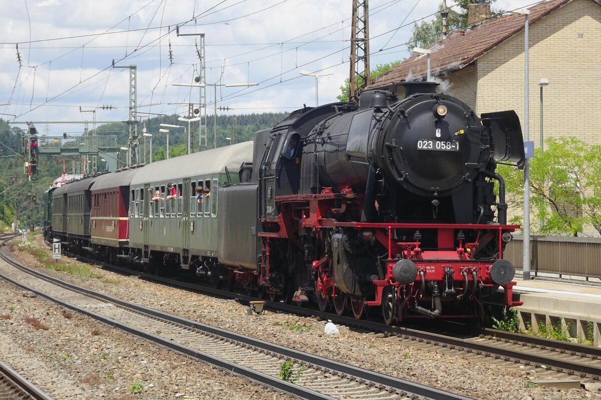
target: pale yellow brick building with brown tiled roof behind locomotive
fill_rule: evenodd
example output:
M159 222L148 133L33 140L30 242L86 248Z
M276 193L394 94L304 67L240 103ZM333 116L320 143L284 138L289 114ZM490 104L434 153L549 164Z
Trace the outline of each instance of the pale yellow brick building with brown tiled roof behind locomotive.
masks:
M551 0L529 8L529 137L538 146L540 87L544 135L601 144L601 2ZM472 10L470 10L470 13ZM511 14L454 32L429 47L432 76L444 92L481 113L516 110L524 125L524 22ZM404 95L398 83L425 79L426 55L413 55L370 88ZM600 156L601 157L601 156Z

